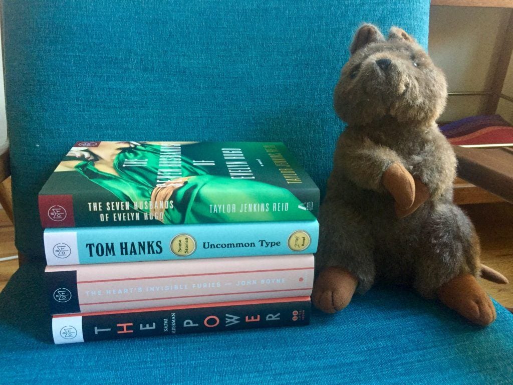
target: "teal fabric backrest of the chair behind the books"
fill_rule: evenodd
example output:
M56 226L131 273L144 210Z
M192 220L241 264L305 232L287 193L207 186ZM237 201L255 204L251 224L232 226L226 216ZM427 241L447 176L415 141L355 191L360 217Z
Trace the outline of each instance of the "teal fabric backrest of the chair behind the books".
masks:
M354 30L426 46L428 15L428 0L5 0L18 250L44 258L37 192L77 140L283 141L324 190Z

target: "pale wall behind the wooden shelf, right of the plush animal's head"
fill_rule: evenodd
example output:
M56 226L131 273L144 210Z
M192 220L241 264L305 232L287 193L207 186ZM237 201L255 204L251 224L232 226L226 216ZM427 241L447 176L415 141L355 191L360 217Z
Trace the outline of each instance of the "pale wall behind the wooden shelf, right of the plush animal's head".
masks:
M512 10L481 7L432 6L429 23L429 54L441 67L449 92L489 91L495 59L501 49ZM503 93L513 95L513 72ZM487 97L449 97L440 121L453 121L484 113ZM500 113L513 114L513 104L501 102ZM509 109L508 109L509 108ZM507 119L505 115L504 118Z

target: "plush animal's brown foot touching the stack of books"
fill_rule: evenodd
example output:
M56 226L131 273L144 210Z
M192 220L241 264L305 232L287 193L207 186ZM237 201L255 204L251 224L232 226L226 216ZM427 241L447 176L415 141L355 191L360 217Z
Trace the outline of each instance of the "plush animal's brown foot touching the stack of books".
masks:
M358 285L358 279L342 267L328 267L313 285L312 302L325 313L336 313L349 302Z

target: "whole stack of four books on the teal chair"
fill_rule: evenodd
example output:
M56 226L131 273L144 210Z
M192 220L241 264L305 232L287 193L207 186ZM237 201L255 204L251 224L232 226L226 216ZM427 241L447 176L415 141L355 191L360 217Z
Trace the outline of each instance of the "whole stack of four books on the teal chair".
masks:
M54 342L307 324L319 199L282 143L75 143L39 194Z

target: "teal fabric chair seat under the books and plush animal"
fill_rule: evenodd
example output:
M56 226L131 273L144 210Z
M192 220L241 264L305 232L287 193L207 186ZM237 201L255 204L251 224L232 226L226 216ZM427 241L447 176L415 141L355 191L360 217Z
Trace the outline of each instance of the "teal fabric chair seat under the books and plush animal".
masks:
M488 328L436 301L376 287L311 325L53 345L42 267L0 293L0 383L510 384L513 315Z

